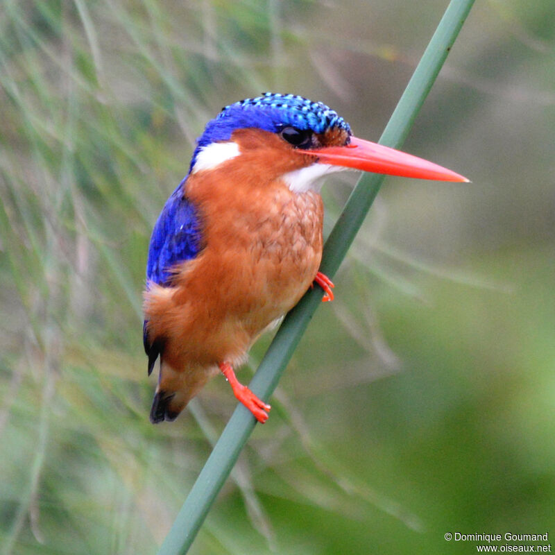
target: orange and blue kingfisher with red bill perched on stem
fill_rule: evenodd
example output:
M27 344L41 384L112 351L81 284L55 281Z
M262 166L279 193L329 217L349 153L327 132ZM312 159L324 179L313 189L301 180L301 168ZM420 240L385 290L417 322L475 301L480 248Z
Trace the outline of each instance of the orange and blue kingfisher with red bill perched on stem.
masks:
M352 135L321 102L267 92L225 106L197 139L189 172L158 217L148 250L144 349L160 357L151 422L175 420L223 373L258 422L270 405L239 382L259 334L317 284L322 178L355 169L468 181L421 158Z

